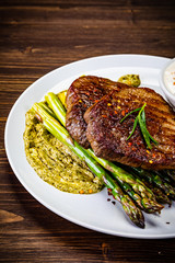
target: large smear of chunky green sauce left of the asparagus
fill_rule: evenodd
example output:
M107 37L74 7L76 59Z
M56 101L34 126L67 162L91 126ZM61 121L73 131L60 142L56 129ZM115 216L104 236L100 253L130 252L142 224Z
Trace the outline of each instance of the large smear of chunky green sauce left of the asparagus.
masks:
M25 116L23 138L27 161L45 182L73 194L93 194L103 188L85 162L47 132L32 111Z

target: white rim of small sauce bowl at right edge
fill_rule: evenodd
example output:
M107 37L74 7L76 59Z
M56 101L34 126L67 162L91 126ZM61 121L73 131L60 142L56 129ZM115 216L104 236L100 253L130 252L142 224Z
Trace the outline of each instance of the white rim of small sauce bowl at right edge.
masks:
M168 101L168 103L172 105L172 107L175 110L175 94L173 94L164 80L165 77L165 71L172 66L172 64L175 64L175 58L171 59L168 62L165 64L165 66L162 68L161 72L160 72L160 85Z

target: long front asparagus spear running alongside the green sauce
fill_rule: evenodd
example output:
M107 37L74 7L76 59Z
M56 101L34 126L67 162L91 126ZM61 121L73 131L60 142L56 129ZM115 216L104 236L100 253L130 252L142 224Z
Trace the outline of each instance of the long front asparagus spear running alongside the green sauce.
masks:
M67 129L51 117L42 105L35 103L32 108L35 111L38 121L42 122L56 138L67 145L81 160L85 161L91 171L104 182L106 187L112 190L112 194L120 202L131 221L140 228L144 228L144 218L141 210L135 205L131 198L122 192L108 173L75 140L71 139Z

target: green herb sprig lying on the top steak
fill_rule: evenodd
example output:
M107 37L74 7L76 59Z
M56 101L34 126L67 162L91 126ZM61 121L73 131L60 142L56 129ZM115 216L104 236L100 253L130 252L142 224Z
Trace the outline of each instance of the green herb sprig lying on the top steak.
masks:
M122 123L130 114L135 113L135 112L139 112L136 119L135 119L135 123L133 123L133 128L130 133L130 135L128 136L127 140L130 139L130 137L132 136L132 134L135 133L135 129L137 127L137 124L139 123L139 126L140 126L140 129L141 129L141 133L142 133L142 136L145 140L145 144L148 146L148 148L152 149L152 146L151 146L151 140L158 145L159 142L150 135L149 130L147 129L147 124L145 124L145 112L144 112L144 107L145 107L147 103L143 104L142 107L138 107L133 111L131 111L130 113L128 113L121 121L120 123Z

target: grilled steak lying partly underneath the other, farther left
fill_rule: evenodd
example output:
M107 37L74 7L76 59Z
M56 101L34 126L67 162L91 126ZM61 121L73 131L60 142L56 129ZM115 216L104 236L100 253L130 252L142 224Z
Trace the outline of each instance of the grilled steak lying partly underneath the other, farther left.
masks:
M94 76L83 76L74 80L67 93L66 127L73 139L84 148L90 144L86 139L85 111L112 90L119 90L126 84Z

